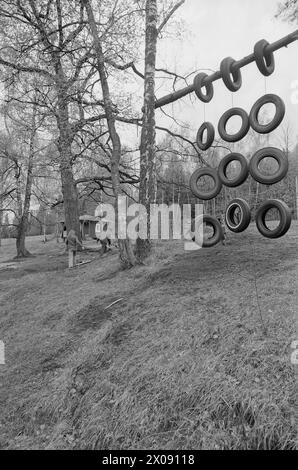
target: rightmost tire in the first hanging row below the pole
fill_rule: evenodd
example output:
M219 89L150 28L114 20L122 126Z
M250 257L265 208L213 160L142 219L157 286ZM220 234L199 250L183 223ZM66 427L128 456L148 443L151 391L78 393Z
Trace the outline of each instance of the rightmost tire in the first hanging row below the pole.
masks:
M275 116L268 124L260 124L258 121L258 115L262 106L267 103L272 103L275 105ZM253 130L259 134L269 134L269 132L274 131L274 129L280 125L285 116L285 112L285 103L279 96L273 94L264 95L261 96L261 98L259 98L251 108L249 113L249 122Z

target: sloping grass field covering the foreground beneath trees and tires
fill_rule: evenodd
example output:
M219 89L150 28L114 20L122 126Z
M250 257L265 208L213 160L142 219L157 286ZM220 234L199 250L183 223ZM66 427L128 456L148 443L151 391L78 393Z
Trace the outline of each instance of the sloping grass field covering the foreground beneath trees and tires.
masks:
M39 237L15 262L4 240L0 447L297 448L297 242L252 226L121 271L116 251L68 270Z

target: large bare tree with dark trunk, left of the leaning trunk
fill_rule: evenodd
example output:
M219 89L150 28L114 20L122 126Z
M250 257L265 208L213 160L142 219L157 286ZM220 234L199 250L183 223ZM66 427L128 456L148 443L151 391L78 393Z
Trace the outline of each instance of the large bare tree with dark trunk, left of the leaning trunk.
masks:
M72 171L74 128L70 106L74 85L82 79L89 59L85 48L79 50L78 38L84 29L81 14L72 10L72 2L35 0L2 2L0 17L5 20L5 57L0 64L8 70L7 83L34 76L39 81L41 100L36 103L56 120L56 144L60 155L60 173L66 224L79 235L77 190ZM30 99L22 97L22 101Z

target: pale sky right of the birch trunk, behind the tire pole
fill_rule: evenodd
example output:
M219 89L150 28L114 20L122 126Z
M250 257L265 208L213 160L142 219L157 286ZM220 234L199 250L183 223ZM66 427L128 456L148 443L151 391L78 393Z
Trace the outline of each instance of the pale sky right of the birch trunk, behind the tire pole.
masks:
M272 42L298 27L275 19L277 6L276 0L186 0L175 15L185 23L186 32L182 39L165 38L159 42L157 65L166 65L181 75L203 68L218 70L223 58L240 59L253 52L258 40ZM267 93L276 93L285 101L283 125L291 123L295 143L298 140L298 105L291 103L291 83L298 80L298 41L277 51L275 62L275 72L266 78L266 89ZM233 93L234 106L249 112L253 103L265 94L265 77L253 63L242 69L242 82L241 89ZM162 89L157 89L157 97L167 94L167 90L172 91L168 80L164 81ZM205 115L215 128L223 112L232 107L231 95L222 81L214 83L214 97L205 105ZM193 128L191 137L195 140L204 113L203 103L194 94L192 96L192 100L187 97L164 109L180 121L189 122ZM157 124L166 122L159 112Z

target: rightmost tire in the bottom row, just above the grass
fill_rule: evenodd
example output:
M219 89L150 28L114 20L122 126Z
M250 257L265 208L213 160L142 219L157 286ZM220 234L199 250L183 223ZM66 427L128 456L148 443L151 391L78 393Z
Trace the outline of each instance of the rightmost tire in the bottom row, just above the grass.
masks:
M266 213L270 209L277 209L280 215L279 225L270 230L265 222ZM280 238L287 233L291 227L292 215L291 210L287 204L279 199L269 199L263 202L256 213L256 225L261 235L266 238Z

